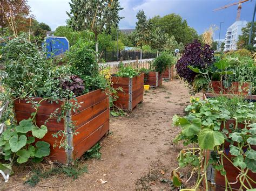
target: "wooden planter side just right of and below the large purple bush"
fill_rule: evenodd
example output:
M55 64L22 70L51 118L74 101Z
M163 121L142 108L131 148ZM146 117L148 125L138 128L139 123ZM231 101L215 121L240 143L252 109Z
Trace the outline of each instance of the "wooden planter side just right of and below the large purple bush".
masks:
M210 88L213 89L215 94L241 94L247 95L250 90L250 83L232 82L229 88L225 88L221 81L211 81Z

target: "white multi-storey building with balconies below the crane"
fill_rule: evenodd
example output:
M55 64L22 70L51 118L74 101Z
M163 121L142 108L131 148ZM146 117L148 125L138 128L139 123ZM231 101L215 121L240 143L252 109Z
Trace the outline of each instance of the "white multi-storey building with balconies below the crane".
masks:
M238 20L228 27L225 36L225 48L224 51L237 50L237 42L239 35L242 34L242 28L247 25L246 20Z

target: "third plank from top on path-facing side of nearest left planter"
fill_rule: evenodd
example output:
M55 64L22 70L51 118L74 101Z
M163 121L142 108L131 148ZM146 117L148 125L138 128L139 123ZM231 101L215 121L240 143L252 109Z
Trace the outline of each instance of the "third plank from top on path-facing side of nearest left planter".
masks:
M73 135L73 146L79 145L84 139L89 137L91 133L95 132L106 122L109 123L109 109L91 119L91 121L87 122L83 126L80 126L80 128L76 130L78 134Z

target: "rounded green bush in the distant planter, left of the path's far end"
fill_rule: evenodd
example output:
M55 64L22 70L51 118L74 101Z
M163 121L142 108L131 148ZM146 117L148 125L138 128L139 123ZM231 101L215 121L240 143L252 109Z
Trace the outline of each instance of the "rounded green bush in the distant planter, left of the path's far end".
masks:
M163 73L165 69L173 64L173 56L167 52L161 53L156 59L154 59L153 67L156 72Z

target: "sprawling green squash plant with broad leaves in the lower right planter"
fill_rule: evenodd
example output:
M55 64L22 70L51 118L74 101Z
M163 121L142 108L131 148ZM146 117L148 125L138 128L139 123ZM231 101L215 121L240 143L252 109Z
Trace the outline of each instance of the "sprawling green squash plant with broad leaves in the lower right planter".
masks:
M221 99L219 98L219 100ZM191 103L185 109L187 112L185 117L173 116L173 125L181 127L181 132L174 142L183 141L185 146L194 145L192 148L184 148L180 151L179 167L174 171L181 167L191 166L192 174L198 172L197 183L193 189L197 190L200 183L206 180L205 186L208 190L206 173L208 166L212 165L225 177L226 190L232 190L232 185L226 178L227 172L223 162L225 158L240 171L238 176L241 183L240 189L252 188L250 181L254 183L255 181L248 176L248 171L256 171L254 158L256 151L252 148L253 145L256 145L256 105L254 103L245 104L243 100L241 102L232 101L232 99L225 100L223 103L214 99L200 101L199 98L192 98ZM234 103L237 103L235 107L226 107ZM233 119L234 124L227 129L225 122L228 119ZM239 128L238 123L244 124L244 128ZM221 128L221 125L224 128ZM224 152L224 142L230 144L230 152L234 155L232 159L228 158ZM198 147L196 147L197 144ZM211 158L207 159L206 155L209 150L212 151ZM245 182L249 187L245 185Z

